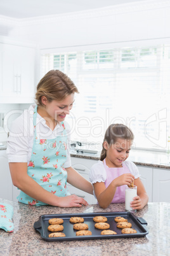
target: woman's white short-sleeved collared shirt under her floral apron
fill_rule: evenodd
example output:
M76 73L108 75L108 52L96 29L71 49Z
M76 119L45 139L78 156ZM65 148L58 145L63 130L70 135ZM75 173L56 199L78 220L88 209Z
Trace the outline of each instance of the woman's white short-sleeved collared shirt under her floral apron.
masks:
M24 110L20 117L11 125L10 136L8 138L8 146L6 153L8 155L8 162L27 162L29 164L32 147L34 143L34 125L33 114L36 105L31 105L28 110ZM67 160L63 167L71 166L70 160L70 127L64 121L65 129L67 132ZM61 135L63 132L62 124L58 123L52 131L46 120L37 113L36 120L36 135L37 139L55 139L56 136Z

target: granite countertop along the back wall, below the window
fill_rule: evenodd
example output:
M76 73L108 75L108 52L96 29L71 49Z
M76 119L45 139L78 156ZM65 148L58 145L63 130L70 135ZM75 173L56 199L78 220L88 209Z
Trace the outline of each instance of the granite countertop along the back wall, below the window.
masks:
M70 150L70 155L71 157L100 160L100 152L91 154L77 153L75 150ZM131 160L137 166L148 166L170 170L170 153L167 152L131 149L128 160Z

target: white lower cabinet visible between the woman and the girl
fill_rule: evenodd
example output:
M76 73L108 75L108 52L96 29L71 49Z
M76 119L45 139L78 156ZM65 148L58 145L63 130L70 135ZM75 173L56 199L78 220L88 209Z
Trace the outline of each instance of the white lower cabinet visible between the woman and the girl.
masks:
M82 159L78 157L71 157L72 167L78 171L86 180L89 181L89 169L93 164L97 162L97 160L91 159ZM78 188L69 185L70 194L75 194L77 196L83 197L88 204L96 204L97 200L91 194L88 194Z

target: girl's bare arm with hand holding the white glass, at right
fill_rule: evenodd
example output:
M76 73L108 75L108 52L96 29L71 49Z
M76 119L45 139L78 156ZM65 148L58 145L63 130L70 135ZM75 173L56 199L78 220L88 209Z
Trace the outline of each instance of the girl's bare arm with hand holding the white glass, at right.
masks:
M134 180L134 185L137 186L138 196L134 197L134 201L131 203L131 207L134 210L140 210L148 203L148 195L140 178Z

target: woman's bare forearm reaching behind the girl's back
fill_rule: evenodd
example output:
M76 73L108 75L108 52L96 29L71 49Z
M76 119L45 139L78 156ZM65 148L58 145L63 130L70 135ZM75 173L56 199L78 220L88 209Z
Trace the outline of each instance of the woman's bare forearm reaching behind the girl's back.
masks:
M93 186L83 178L73 167L65 168L67 171L67 181L76 188L79 188L93 195Z

